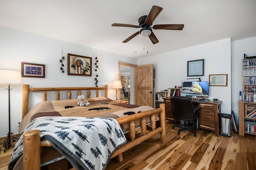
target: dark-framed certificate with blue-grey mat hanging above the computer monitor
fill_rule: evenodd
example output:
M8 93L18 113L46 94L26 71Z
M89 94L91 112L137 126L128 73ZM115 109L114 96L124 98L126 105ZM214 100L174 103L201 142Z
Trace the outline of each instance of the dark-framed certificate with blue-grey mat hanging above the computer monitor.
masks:
M188 61L189 76L204 76L204 59Z

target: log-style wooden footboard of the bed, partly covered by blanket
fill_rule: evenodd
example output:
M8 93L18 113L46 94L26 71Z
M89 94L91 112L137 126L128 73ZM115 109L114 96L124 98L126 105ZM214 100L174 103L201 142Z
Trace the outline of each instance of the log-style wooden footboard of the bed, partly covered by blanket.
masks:
M160 127L156 127L156 117L155 114L160 113ZM151 131L147 131L146 119L145 117L151 117ZM134 121L136 119L141 119L141 131L140 137L136 138L136 130ZM166 143L166 129L165 129L165 105L160 104L160 108L153 109L149 111L144 111L142 113L137 113L134 115L129 115L126 117L121 117L117 119L118 123L121 125L123 123L130 123L130 141L126 144L120 146L111 158L118 156L118 160L122 161L122 153L132 147L140 144L141 142L149 139L150 137L160 133L161 143ZM23 134L24 150L23 150L23 167L24 170L40 170L40 147L51 147L50 142L40 141L40 131L32 130ZM75 170L75 168L72 168Z

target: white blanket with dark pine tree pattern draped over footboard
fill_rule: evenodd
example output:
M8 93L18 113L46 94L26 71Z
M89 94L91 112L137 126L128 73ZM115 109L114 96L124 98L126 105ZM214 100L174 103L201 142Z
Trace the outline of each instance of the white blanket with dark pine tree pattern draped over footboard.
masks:
M116 119L89 117L38 117L24 129L40 130L41 141L47 140L77 170L103 170L114 151L126 138ZM8 166L12 170L23 154L20 135Z

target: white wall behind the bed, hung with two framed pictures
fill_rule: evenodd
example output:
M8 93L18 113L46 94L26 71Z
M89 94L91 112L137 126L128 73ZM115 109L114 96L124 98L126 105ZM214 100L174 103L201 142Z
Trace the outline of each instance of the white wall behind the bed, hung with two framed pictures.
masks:
M106 42L107 43L107 42ZM64 70L60 70L60 59L64 51ZM67 53L92 57L92 77L68 76ZM95 57L98 57L98 86L108 84L108 97L115 99L115 90L111 88L112 81L118 80L118 61L137 64L137 59L93 49L90 47L43 37L33 33L19 31L0 26L0 69L21 70L21 62L45 64L45 78L22 78L23 84L32 87L78 87L95 86L96 72ZM0 85L0 137L8 133L8 90L7 85ZM16 122L21 120L22 114L22 85L11 86L11 131L18 133ZM77 94L72 94L76 98ZM41 99L40 99L41 98ZM55 96L48 94L48 100ZM30 96L31 106L42 100L42 95Z

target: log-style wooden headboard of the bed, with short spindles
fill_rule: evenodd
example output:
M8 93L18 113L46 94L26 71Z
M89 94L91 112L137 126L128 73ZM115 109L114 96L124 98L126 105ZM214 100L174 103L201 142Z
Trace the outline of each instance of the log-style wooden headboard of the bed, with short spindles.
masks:
M29 84L23 84L23 97L22 97L22 118L28 113L29 93L30 92L43 92L42 101L47 101L47 92L56 91L56 100L60 100L60 91L68 91L68 100L71 99L71 91L77 91L78 95L82 95L81 90L87 90L88 98L91 97L91 91L96 92L96 97L99 97L99 90L104 90L104 97L108 97L108 85L104 87L48 87L48 88L29 88Z

